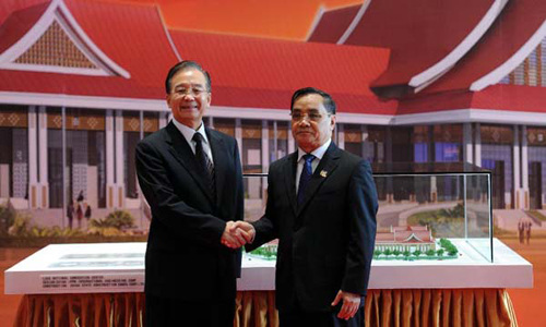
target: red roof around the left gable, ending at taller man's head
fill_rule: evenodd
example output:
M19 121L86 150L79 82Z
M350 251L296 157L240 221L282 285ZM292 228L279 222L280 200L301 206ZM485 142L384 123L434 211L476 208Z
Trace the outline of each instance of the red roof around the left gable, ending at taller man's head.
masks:
M163 99L164 77L177 62L154 5L66 0L78 24L130 78L0 70L0 89ZM33 11L21 11L24 22ZM8 20L9 21L9 20ZM97 22L100 22L99 24Z

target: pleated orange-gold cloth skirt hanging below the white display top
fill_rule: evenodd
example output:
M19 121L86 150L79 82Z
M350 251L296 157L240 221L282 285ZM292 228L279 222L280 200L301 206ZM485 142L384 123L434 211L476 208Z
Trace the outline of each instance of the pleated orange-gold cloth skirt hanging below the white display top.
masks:
M143 293L27 294L16 327L141 327ZM274 291L239 291L235 327L278 326ZM505 289L369 290L364 326L518 326ZM180 317L183 326L183 317Z

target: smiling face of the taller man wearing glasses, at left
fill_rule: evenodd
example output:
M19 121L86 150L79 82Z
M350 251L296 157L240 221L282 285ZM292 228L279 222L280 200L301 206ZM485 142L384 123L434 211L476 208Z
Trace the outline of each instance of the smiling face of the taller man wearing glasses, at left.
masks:
M197 130L211 105L204 74L192 68L177 72L170 80L167 105L178 122Z

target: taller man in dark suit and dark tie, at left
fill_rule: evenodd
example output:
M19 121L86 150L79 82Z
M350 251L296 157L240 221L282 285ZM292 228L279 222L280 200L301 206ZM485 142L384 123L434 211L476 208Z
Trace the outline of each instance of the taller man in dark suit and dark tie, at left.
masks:
M145 257L146 325L233 326L240 275L242 174L236 141L204 128L209 73L182 61L166 78L174 119L136 145L152 210Z

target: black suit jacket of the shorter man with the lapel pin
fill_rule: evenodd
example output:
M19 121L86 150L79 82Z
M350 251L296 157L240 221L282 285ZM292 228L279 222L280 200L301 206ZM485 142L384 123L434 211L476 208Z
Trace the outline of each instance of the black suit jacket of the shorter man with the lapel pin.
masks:
M297 152L271 165L265 215L247 251L278 238L276 305L297 299L331 311L339 290L366 294L376 239L376 185L367 161L331 143L313 172L304 205L296 198Z

